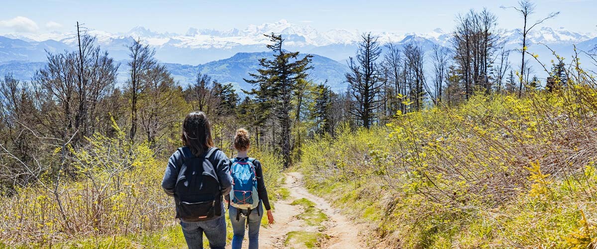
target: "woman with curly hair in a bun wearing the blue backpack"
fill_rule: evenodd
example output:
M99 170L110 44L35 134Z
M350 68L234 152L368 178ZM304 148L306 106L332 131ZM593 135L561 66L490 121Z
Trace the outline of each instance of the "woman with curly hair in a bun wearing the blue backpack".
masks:
M236 158L231 159L230 176L233 179L232 191L226 196L228 216L232 223L232 249L242 247L245 228L249 230L249 249L259 248L259 227L263 217L263 206L267 210L267 222L273 224L273 214L263 182L263 170L259 160L250 158L249 134L245 129L236 131L234 149ZM261 205L263 203L263 206Z

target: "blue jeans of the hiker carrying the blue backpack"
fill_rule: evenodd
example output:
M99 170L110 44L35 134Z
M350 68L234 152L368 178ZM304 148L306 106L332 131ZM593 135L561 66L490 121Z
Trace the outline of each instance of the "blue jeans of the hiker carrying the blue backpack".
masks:
M236 209L230 206L228 209L228 216L230 217L230 223L232 223L232 230L234 236L232 236L232 249L240 249L242 247L242 239L245 238L245 216L240 216L236 220ZM259 210L259 214L257 214ZM247 214L247 210L240 210L242 214ZM259 206L251 210L249 214L249 249L259 248L259 227L261 225L261 217L263 217L263 205L259 202Z

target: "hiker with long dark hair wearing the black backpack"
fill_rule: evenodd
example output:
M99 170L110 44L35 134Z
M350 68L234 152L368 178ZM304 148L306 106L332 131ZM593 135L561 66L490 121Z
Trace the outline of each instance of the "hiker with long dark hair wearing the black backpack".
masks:
M232 186L230 160L214 147L210 121L203 112L184 118L182 141L184 146L170 156L162 188L174 196L176 218L190 249L203 248L204 233L210 248L224 248L226 218L221 200Z

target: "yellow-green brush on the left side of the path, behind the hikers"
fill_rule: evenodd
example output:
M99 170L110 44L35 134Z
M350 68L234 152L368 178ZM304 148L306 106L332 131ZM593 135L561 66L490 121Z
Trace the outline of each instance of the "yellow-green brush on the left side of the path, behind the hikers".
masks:
M177 225L173 199L161 187L167 161L155 159L147 143L132 143L115 123L113 128L115 137L94 134L87 146L54 152L54 158L66 155L76 169L74 180L48 174L35 185L0 197L2 243L153 246L164 236L181 241L180 229L171 228ZM252 150L251 156L262 162L264 180L275 195L280 159L260 149Z

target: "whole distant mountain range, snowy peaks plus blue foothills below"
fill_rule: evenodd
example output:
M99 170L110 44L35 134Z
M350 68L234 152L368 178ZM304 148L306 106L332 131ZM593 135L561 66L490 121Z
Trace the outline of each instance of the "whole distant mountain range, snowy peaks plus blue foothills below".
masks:
M103 49L109 51L115 60L128 59L125 45L134 39L141 39L156 50L156 58L166 63L181 84L192 82L197 72L212 75L220 82L233 82L237 87L248 87L242 78L248 72L257 69L257 59L267 56L264 53L269 39L267 33L278 33L285 38L285 48L313 54L315 69L312 72L314 81L328 79L330 85L341 90L345 85L344 73L347 72L346 60L354 56L361 32L358 30L334 29L320 32L312 27L298 25L281 20L275 23L250 25L243 30L227 31L214 29L191 28L186 33L160 33L144 27L134 27L125 33L109 33L101 30L88 30L88 34L97 39ZM519 48L521 30L501 30L508 48ZM416 42L429 51L434 44L450 46L451 33L441 29L429 33L372 33L384 44L395 42L405 45ZM562 28L551 29L541 27L533 30L528 39L530 51L540 55L540 59L549 63L552 54L543 45L555 50L561 56L570 58L574 53L573 45L584 51L592 50L597 44L597 36L590 33L577 33ZM0 73L13 72L23 80L29 80L46 59L46 51L59 53L72 50L76 45L75 33L45 34L4 34L0 36ZM510 62L517 63L519 53L510 55ZM429 63L429 60L427 60ZM194 66L192 66L194 65ZM540 67L536 68L539 70ZM26 72L27 71L27 72ZM121 67L119 80L124 81L125 63Z

